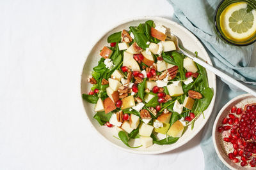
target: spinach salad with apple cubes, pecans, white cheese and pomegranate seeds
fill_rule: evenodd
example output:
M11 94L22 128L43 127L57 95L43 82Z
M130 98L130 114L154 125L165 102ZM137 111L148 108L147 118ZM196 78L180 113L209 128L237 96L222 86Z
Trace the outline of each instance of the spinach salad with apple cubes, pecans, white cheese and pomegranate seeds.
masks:
M205 68L177 52L168 30L148 20L111 34L87 78L93 118L130 148L177 142L214 96Z

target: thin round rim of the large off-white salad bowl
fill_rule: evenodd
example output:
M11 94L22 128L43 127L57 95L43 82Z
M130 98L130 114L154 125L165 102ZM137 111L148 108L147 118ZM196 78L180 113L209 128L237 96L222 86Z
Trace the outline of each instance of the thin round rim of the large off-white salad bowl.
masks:
M97 38L95 38L95 40L93 41L92 43L92 46L90 46L90 50L88 50L88 52L86 53L86 57L85 57L85 61L84 61L84 66L83 66L83 69L81 71L81 79L80 79L80 94L82 94L82 76L83 76L83 70L84 70L84 67L85 67L85 63L86 63L86 60L88 58L88 55L92 52L93 50L93 47L98 43L98 41L100 39L102 39L106 34L108 34L108 32L112 31L113 29L115 29L116 27L118 27L119 25L122 25L122 24L125 24L127 22L132 22L132 21L136 21L136 20L157 20L157 22L169 22L173 25L177 25L178 27L180 27L182 29L182 31L186 31L188 34L190 34L194 39L195 39L195 42L198 43L198 45L200 45L202 51L206 54L205 57L208 62L208 64L210 64L212 66L212 61L211 61L211 58L209 57L207 51L205 50L204 46L202 45L202 43L200 42L200 40L198 40L198 38L196 38L196 36L191 32L189 31L188 29L186 29L186 27L184 27L183 25L180 25L178 24L177 22L174 22L173 20L170 20L168 18L164 18L164 17L156 17L156 16L140 16L140 17L132 17L132 18L127 18L125 20L122 20L122 21L119 21L117 22L117 24L114 24L114 25L110 25L110 29L108 29L107 31L104 31L104 32L100 32L100 36L97 36ZM164 148L164 149L160 149L160 150L157 150L157 151L139 151L139 150L132 150L131 148L124 148L122 146L118 146L116 145L115 143L112 143L111 141L109 141L105 136L103 136L93 125L92 121L90 120L90 118L88 117L88 114L86 113L86 110L85 110L85 106L83 104L83 97L81 97L81 104L83 104L83 108L84 108L84 111L86 113L86 118L87 120L89 120L90 122L90 125L92 126L92 129L94 129L94 131L97 132L97 134L103 138L105 141L107 141L108 143L110 143L112 146L116 146L117 148L120 148L121 150L124 150L125 152L130 152L130 153L137 153L137 154L142 154L142 155L154 155L154 154L159 154L159 153L165 153L165 152L169 152L171 150L175 150L176 148L179 148L180 146L182 145L185 145L186 143L188 143L191 139L193 139L196 134L198 134L198 132L200 132L203 127L205 126L205 124L207 124L209 118L211 117L211 112L212 112L212 109L213 109L213 106L215 104L215 99L216 99L216 75L215 74L212 74L212 80L213 80L213 83L212 83L212 89L214 89L214 96L212 97L212 106L211 108L209 108L209 113L210 113L210 116L205 118L205 123L200 125L198 127L198 129L196 129L196 133L192 136L189 136L189 138L187 138L186 140L184 140L182 143L179 143L178 145L175 145L173 146L172 148ZM195 131L195 129L194 129Z

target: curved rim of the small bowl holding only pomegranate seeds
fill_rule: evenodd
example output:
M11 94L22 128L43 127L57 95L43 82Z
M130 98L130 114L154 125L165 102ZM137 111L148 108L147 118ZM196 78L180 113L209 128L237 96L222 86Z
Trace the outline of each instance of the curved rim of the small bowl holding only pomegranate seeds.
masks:
M233 103L234 101L238 100L238 99L241 99L243 97L250 97L252 96L252 94L241 94L237 97L234 97L233 99L231 99L230 101L228 101L228 103L226 103L222 108L221 110L219 111L217 117L215 118L215 121L214 121L214 124L213 124L213 127L212 127L212 141L213 141L213 144L214 144L214 148L215 148L215 151L218 155L218 157L220 158L221 162L223 162L223 164L225 164L225 166L227 166L228 168L230 169L236 169L235 167L233 166L230 166L230 164L228 164L228 162L226 162L223 157L221 156L220 154L220 151L218 150L217 148L217 143L216 143L216 138L215 138L215 134L216 134L216 127L217 127L217 123L218 123L218 120L220 119L221 115L223 114L223 111L231 104ZM253 96L252 96L253 97Z

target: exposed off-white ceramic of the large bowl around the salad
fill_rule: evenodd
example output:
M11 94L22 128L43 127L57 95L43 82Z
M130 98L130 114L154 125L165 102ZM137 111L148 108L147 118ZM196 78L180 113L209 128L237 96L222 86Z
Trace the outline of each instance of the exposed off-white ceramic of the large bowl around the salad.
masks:
M97 62L100 59L99 52L102 49L104 45L108 45L107 38L110 34L113 34L114 32L121 31L122 29L129 29L129 26L131 25L139 25L140 23L145 23L147 20L154 20L155 24L158 25L164 25L166 27L169 27L171 31L176 35L179 36L179 38L182 41L183 46L190 50L191 52L198 52L198 56L202 59L206 60L209 64L212 64L211 59L209 58L207 52L204 49L204 46L198 41L198 39L187 29L182 27L181 25L177 24L176 22L173 22L171 20L168 20L166 18L161 17L138 17L138 18L132 18L130 20L125 20L123 22L120 22L120 24L113 27L111 30L106 32L106 34L103 34L102 37L92 46L92 50L87 55L86 62L84 64L83 73L81 77L81 94L88 94L90 91L91 85L87 82L87 77L92 71L92 68L97 66ZM206 124L208 118L211 115L212 107L214 106L215 101L215 94L216 94L216 76L207 71L208 79L209 79L209 87L211 87L214 90L214 96L212 98L211 104L209 105L209 108L204 111L205 118L202 116L198 118L195 122L195 127L193 131L191 131L191 128L188 128L188 130L184 133L184 135L173 145L153 145L149 148L128 148L127 146L122 143L122 141L113 138L113 135L118 136L115 128L108 128L106 126L100 126L98 122L93 118L93 115L95 114L93 111L94 104L87 103L86 101L83 101L84 110L86 111L86 115L88 116L90 122L92 123L92 126L97 130L97 132L102 136L106 141L109 141L109 143L117 146L118 148L121 148L127 152L132 153L141 153L141 154L157 154L157 153L163 153L168 152L170 150L174 150L175 148L179 148L180 146L184 145L185 143L188 143L196 134L204 127ZM134 143L134 146L140 145L138 139L135 139L131 141Z

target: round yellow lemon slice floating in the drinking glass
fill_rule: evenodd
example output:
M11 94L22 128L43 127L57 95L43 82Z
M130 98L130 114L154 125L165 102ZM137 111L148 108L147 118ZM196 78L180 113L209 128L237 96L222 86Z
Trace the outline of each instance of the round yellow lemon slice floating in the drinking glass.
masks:
M247 5L244 2L233 3L221 13L221 31L228 39L245 41L256 34L256 11L248 12Z

